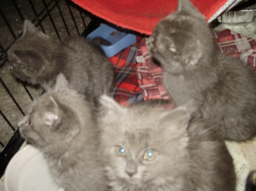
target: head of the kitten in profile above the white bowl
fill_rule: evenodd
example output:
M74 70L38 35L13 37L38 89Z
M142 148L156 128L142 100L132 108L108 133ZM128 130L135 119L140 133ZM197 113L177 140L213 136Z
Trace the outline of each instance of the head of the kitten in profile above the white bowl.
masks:
M59 74L55 89L37 98L28 114L18 122L21 137L39 149L52 147L65 152L81 133L81 123L91 123L84 98L67 85L65 77ZM83 121L81 111L85 115Z

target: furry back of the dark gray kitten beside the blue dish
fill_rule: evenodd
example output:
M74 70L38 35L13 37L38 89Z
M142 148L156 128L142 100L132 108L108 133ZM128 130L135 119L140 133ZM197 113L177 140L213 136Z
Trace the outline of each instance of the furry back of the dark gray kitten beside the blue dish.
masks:
M62 70L70 85L92 97L108 93L113 87L114 70L111 62L92 43L83 37L72 37L63 42L67 47L68 65ZM61 64L61 63L60 63Z

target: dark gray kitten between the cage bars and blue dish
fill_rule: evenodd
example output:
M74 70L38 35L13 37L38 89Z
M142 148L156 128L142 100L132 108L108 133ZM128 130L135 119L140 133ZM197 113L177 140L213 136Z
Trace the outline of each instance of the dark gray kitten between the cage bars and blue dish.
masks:
M111 90L114 79L112 64L99 49L100 42L102 39L96 38L90 43L81 36L60 42L25 20L23 35L8 51L10 69L15 77L46 90L62 72L72 88L88 101L95 101Z

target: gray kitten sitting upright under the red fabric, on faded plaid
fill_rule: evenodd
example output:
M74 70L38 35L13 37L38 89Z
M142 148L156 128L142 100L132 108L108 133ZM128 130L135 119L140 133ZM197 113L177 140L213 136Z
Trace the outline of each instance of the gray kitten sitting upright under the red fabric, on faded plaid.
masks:
M224 56L204 16L188 0L161 20L146 41L163 69L163 82L177 105L195 99L224 139L256 133L256 78L238 59Z

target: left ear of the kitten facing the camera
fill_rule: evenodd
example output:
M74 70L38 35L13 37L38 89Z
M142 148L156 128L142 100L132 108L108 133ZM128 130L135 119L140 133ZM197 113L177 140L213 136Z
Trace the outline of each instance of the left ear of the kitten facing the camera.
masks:
M113 98L104 94L100 97L101 109L107 115L119 115L120 113L124 113L126 108L122 107L119 103L117 103Z

